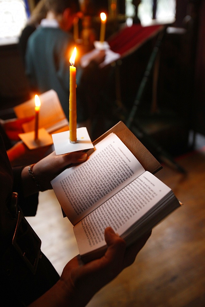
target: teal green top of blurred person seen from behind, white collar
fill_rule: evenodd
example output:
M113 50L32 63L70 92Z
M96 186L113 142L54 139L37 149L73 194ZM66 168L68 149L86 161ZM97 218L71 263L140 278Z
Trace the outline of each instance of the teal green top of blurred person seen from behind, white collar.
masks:
M34 91L44 93L53 89L58 94L69 120L69 58L74 48L72 35L57 27L39 26L29 37L25 70ZM76 66L76 64L75 64ZM77 92L80 90L82 69L76 68ZM87 119L86 109L78 99L77 122Z

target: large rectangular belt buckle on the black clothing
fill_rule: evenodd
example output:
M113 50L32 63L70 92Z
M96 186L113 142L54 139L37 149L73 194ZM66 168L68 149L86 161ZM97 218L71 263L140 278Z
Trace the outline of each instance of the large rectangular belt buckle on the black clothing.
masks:
M18 212L12 245L29 269L35 274L41 252L41 239L27 222L21 211Z

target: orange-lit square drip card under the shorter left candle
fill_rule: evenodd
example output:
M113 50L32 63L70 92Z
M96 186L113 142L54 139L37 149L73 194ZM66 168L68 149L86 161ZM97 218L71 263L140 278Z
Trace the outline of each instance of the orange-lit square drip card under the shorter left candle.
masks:
M38 130L37 139L35 139L35 131L20 133L19 138L31 150L53 144L52 136L44 128Z

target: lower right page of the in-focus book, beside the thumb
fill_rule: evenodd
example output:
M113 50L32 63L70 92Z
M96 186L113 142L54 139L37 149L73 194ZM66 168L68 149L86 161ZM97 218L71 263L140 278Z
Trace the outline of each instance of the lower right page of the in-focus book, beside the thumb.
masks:
M111 226L120 236L157 204L171 189L146 171L73 228L80 255L106 244Z

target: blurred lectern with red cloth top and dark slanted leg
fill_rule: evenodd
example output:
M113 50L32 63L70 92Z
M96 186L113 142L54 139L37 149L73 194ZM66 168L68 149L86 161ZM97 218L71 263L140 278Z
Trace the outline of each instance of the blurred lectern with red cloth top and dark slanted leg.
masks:
M147 134L136 120L137 109L141 103L141 98L145 90L147 81L149 80L150 73L156 62L156 58L159 52L159 48L164 37L166 27L162 25L154 25L149 27L142 27L141 25L133 25L132 27L126 27L119 31L116 35L111 37L109 41L110 48L114 52L118 52L121 55L121 59L135 50L137 50L142 44L149 38L156 36L157 41L153 48L153 51L149 57L147 67L145 69L143 78L141 80L137 95L133 102L128 119L126 120L126 126L135 134L138 138L144 138L148 148L151 148L157 158L168 164L170 167L176 169L181 173L185 173L185 170L172 158L172 156L164 150L154 139Z

